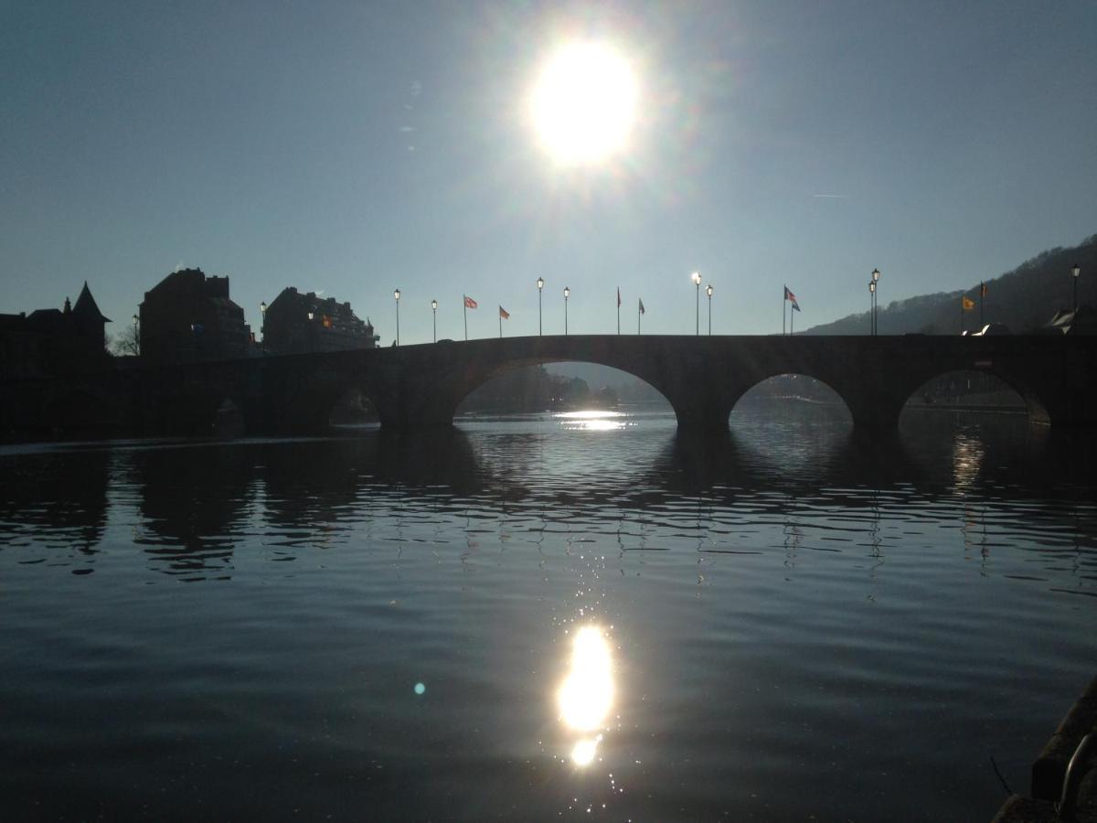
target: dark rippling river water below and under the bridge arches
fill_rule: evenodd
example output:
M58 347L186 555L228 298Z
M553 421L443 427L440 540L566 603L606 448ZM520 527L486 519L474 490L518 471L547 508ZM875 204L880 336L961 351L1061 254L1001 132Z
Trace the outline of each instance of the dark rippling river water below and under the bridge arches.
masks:
M1089 448L796 404L8 447L0 816L989 819L1094 675Z

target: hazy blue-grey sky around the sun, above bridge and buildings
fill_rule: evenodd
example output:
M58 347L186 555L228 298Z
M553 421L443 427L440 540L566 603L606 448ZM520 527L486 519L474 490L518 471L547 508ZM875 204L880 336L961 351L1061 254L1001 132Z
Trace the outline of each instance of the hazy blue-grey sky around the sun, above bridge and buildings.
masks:
M117 334L181 267L252 328L285 286L382 343L798 329L1097 233L1097 2L0 0L0 312L87 280ZM545 150L569 43L635 78L626 145ZM1084 274L1084 273L1083 273ZM1097 272L1095 272L1097 275ZM1065 277L1065 274L1064 274ZM698 309L698 297L700 308ZM698 315L698 312L700 313Z

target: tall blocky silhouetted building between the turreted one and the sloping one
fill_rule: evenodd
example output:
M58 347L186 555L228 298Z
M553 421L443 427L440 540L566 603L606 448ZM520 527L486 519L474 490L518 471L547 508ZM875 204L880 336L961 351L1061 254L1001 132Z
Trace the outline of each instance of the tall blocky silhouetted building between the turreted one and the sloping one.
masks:
M140 304L140 354L174 363L248 357L251 329L228 296L228 278L182 269L145 292Z

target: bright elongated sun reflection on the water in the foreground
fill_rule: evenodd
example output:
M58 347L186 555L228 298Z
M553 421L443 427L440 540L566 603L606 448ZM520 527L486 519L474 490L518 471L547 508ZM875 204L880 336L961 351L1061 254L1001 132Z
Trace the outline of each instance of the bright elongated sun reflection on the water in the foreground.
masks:
M583 735L572 748L572 760L586 766L595 759L613 706L613 656L601 628L585 625L575 634L556 703L564 725Z

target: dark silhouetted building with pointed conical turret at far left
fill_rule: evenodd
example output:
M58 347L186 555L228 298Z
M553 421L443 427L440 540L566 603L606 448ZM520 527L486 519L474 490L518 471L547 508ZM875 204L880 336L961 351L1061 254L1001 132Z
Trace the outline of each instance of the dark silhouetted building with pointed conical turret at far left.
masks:
M84 281L76 305L0 315L0 375L33 377L106 365L103 316Z

